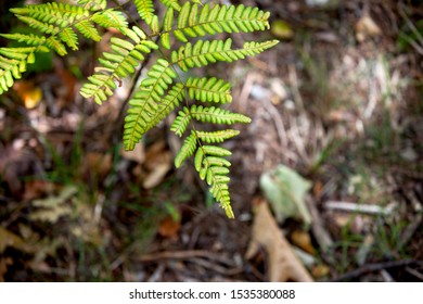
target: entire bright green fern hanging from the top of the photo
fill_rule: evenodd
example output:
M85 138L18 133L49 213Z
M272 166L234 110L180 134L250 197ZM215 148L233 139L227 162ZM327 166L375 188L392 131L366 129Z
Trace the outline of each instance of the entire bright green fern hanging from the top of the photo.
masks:
M102 38L99 28L115 28L119 35L111 39L111 50L102 53L94 74L80 89L85 98L92 98L101 104L114 93L124 77L134 75L148 53L157 50L162 55L129 100L124 127L125 148L132 150L149 129L182 106L170 127L180 137L188 134L175 165L180 167L189 156L194 156L200 177L210 186L213 197L227 216L233 218L229 193L231 163L227 160L231 152L218 144L239 131L202 131L198 128L203 123L232 125L246 124L251 119L221 107L232 101L229 83L217 77L190 77L182 81L180 73L211 63L233 62L275 46L277 40L269 40L249 41L234 48L231 38L211 38L222 33L269 29L270 14L243 4L202 4L198 0L159 2L165 10L162 22L155 12L158 1L133 0L141 22L133 24L131 17L131 26L127 12L120 11L121 8L107 9L106 0L79 0L76 4L51 2L12 9L17 18L40 34L1 35L27 46L0 48L0 93L8 91L14 79L22 77L27 65L34 63L35 53L54 51L65 55L68 49L78 49L80 35L99 41ZM170 50L169 56L164 55L165 50Z

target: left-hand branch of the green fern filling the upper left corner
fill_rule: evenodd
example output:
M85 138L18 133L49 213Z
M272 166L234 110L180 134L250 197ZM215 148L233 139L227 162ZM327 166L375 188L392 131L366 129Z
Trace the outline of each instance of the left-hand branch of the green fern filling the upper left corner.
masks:
M30 48L5 48L0 54L0 93L20 79L27 65L35 62L35 53L54 51L67 54L67 48L78 50L79 31L87 39L101 40L95 24L124 30L127 21L121 12L104 10L106 1L79 1L85 7L64 3L46 3L11 9L15 16L39 34L2 34L1 36L31 46ZM101 11L100 11L101 10ZM95 97L99 101L99 97Z

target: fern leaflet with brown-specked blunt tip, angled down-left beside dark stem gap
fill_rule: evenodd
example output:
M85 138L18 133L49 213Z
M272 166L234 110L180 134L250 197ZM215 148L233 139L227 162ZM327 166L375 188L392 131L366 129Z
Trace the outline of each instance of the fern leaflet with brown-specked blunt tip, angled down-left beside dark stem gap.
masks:
M123 30L134 43L120 38L112 37L111 49L113 52L103 52L99 59L100 67L95 68L95 74L88 77L89 83L80 89L85 98L94 98L101 104L113 94L116 89L115 80L120 80L133 74L137 66L144 60L143 53L150 53L152 49L157 49L153 41L145 40L145 34L139 28Z

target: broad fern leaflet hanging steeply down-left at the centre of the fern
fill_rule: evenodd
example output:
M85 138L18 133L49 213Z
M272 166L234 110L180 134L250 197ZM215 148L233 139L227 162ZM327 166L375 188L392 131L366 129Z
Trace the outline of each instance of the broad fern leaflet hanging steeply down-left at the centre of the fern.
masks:
M169 62L158 59L142 80L125 118L124 143L126 150L133 150L141 137L149 130L151 122L162 102L162 97L177 77Z

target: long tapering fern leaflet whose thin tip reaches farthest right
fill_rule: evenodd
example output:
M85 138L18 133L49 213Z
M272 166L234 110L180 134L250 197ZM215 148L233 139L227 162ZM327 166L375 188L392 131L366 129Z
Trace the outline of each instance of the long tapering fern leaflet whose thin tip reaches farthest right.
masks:
M178 64L179 67L187 72L194 66L201 67L218 61L233 62L244 59L247 55L256 55L262 51L278 45L278 40L269 40L265 42L245 42L242 49L231 49L232 39L227 40L198 40L192 46L188 42L179 48L178 51L171 52L171 62Z

